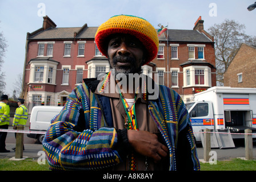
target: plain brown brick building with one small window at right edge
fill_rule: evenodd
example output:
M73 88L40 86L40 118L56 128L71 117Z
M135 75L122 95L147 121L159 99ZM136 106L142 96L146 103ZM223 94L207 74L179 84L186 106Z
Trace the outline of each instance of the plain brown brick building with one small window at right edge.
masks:
M224 73L224 86L256 88L256 46L242 43Z

